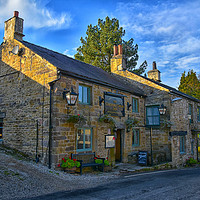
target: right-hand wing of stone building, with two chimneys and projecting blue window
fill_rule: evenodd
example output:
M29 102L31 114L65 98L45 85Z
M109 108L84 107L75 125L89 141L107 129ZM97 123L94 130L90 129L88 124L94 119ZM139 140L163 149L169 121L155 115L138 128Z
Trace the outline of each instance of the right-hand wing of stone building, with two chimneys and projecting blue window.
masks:
M145 135L146 138L148 134L152 137L152 141L146 141L146 148L152 146L153 160L172 160L174 165L181 165L188 157L198 159L200 101L162 84L156 62L153 62L148 78L129 72L124 63L123 56L114 55L111 72L118 79L126 79L131 85L139 87L146 95ZM161 105L166 109L163 115L158 113Z

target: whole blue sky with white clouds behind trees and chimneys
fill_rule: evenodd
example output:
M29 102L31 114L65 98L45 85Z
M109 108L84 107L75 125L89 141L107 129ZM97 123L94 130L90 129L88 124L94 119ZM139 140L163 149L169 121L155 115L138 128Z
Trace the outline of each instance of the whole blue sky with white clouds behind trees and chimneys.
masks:
M164 84L177 88L183 71L200 73L199 0L0 0L0 37L4 21L18 10L24 40L73 57L89 24L119 19L139 46L140 65L156 61Z

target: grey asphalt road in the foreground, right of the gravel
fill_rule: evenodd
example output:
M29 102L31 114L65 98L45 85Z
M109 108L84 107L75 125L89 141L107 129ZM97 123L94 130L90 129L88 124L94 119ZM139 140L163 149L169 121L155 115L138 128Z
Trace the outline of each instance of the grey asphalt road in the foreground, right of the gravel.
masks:
M129 174L91 189L64 191L31 198L41 199L200 199L200 168Z

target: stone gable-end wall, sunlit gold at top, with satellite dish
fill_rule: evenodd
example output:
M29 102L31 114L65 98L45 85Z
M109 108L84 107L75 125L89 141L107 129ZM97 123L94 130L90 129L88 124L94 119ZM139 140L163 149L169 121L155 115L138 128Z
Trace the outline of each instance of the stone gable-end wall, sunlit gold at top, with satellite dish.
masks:
M10 51L25 48L18 56ZM47 158L49 132L49 85L57 69L17 40L1 46L0 112L5 112L3 143L35 157L38 121L38 153Z

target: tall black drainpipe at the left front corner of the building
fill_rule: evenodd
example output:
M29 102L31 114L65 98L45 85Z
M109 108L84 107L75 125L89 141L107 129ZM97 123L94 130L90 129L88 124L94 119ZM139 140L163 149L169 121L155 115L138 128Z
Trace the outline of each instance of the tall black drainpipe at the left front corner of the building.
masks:
M56 81L61 79L61 74L60 72L58 72L59 74L59 78L55 79L53 81L51 81L49 84L50 86L50 101L49 101L49 169L51 169L51 163L52 163L52 156L51 156L51 152L52 152L52 130L53 130L53 125L52 125L52 92L53 92L53 86L56 83Z

